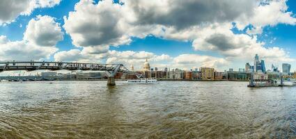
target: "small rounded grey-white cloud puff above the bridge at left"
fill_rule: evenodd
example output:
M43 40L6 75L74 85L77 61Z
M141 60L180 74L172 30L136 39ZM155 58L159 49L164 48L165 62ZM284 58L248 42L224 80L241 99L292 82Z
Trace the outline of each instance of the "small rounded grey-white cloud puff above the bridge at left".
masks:
M24 40L39 46L52 47L63 40L63 32L53 17L38 15L31 19L24 33Z

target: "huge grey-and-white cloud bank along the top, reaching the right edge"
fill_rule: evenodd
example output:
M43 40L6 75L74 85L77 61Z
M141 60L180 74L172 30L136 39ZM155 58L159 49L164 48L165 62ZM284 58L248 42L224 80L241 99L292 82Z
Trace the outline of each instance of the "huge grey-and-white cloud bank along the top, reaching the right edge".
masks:
M98 3L79 1L75 11L64 18L63 27L71 35L73 44L78 47L118 46L130 43L131 37L145 38L150 34L175 40L194 40L198 29L232 22L241 30L252 24L254 27L248 32L261 33L261 27L295 24L296 20L292 13L287 12L286 0L120 2L122 4L110 0ZM269 18L265 20L265 17Z

